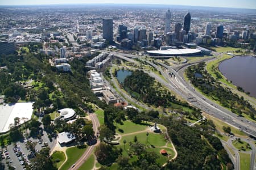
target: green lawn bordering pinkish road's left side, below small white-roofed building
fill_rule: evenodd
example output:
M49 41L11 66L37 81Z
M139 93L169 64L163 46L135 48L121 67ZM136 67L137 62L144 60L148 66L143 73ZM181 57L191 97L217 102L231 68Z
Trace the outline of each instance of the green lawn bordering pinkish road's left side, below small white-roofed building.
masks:
M66 154L68 156L67 162L60 168L61 170L69 169L77 160L84 154L86 147L78 148L78 147L71 147L68 148Z

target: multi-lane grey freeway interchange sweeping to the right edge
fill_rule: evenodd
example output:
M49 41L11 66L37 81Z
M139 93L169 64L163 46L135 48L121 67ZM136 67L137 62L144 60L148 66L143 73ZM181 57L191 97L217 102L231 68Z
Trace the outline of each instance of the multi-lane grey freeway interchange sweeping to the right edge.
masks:
M134 58L139 58L138 56L134 56L131 54L122 54L117 52L112 53L115 57L124 59L129 62L135 62ZM241 129L246 134L251 135L254 138L256 137L256 125L254 122L246 120L246 118L243 117L238 117L237 114L232 113L228 109L214 103L212 100L207 99L202 94L200 94L200 92L197 92L195 88L193 88L192 84L184 80L184 70L189 65L185 65L184 67L181 67L178 71L176 71L172 67L167 66L164 63L158 62L158 65L156 65L155 63L152 63L146 59L140 59L142 61L146 61L149 65L155 67L158 71L160 71L160 73L164 76L167 82L156 74L149 74L150 76L153 76L156 80L169 88L171 91L176 92L176 94L183 97L183 99L187 100L190 104L197 108L200 108L202 111L212 115L213 117L216 117L226 122L227 124L234 126L237 129ZM196 64L198 62L191 64ZM159 65L164 67L164 70Z

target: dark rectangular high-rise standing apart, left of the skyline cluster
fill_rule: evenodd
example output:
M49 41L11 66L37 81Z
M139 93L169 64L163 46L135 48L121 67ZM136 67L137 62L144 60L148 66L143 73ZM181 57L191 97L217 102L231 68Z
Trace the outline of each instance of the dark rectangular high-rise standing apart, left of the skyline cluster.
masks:
M103 38L113 42L113 19L102 19Z

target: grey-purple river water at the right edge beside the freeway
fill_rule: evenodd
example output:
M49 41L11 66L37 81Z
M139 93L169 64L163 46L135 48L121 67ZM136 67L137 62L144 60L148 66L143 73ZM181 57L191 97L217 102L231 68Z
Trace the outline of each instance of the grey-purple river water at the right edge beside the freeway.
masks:
M256 97L256 57L237 56L220 63L218 69L236 86Z

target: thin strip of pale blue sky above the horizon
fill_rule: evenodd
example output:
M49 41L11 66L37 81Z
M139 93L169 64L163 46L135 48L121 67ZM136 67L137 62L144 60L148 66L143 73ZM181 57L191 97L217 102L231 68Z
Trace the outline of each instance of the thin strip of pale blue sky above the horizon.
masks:
M48 5L48 4L79 4L79 3L131 3L160 5L189 5L209 7L232 7L256 9L256 0L0 0L0 5Z

